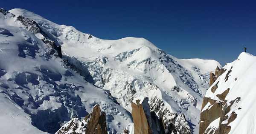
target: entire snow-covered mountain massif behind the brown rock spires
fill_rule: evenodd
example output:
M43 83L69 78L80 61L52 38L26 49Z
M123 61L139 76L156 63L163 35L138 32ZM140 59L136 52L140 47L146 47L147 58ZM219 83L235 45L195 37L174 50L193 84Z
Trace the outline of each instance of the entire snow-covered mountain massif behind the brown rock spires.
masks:
M197 134L209 72L221 67L177 59L143 38L102 40L24 9L0 9L0 28L5 131L15 122L13 132L54 133L99 103L108 132L121 133L132 123L132 100L144 96L166 131L183 114Z

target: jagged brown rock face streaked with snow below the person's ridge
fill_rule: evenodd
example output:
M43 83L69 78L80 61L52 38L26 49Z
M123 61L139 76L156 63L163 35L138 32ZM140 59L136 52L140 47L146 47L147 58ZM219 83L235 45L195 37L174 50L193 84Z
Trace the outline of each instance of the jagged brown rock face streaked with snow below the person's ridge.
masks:
M233 66L231 66L230 70L222 77L222 79L224 79L222 82L226 82L228 80L232 68ZM218 77L220 77L221 74L223 74L226 70L227 69L219 69L217 67L215 74L210 74L210 86L215 83L216 80L218 80L214 86L210 87L213 94L215 94L216 90L218 89L218 84L220 83ZM229 92L230 88L227 88L222 93L216 94L215 96L217 99L204 97L201 109L199 134L229 134L231 130L229 124L237 117L235 111L230 113L230 107L240 101L239 97L231 101L225 100ZM218 126L211 125L213 122L218 123Z

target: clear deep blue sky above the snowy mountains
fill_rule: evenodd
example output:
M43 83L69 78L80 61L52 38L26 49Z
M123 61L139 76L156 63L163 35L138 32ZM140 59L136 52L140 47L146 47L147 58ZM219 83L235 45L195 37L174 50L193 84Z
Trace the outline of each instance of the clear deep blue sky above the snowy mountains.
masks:
M244 0L2 0L1 7L27 9L102 39L144 37L178 58L224 65L244 46L256 55L256 3Z

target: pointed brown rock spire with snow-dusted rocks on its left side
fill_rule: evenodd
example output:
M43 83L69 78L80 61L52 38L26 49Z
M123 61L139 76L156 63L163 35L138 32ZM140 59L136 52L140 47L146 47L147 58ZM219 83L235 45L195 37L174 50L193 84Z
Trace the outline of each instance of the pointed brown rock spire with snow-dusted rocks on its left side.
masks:
M73 118L55 134L108 134L106 114L101 111L99 105L95 105L92 113L83 120Z

